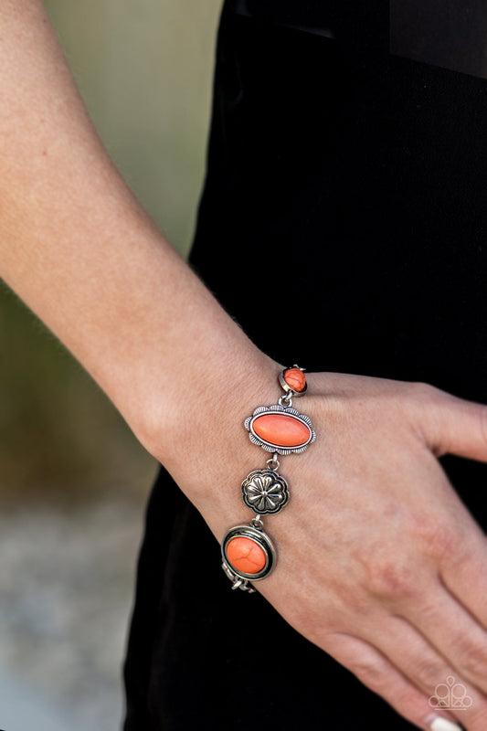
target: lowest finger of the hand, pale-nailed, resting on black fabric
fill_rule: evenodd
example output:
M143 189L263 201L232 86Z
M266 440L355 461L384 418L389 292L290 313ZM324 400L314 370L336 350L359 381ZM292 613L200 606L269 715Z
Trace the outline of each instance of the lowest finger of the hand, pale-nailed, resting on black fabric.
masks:
M337 662L364 683L367 688L380 695L398 714L425 731L435 731L432 709L428 696L411 683L397 668L371 644L345 633L327 635L323 644ZM461 731L455 725L454 716L448 712L438 712L439 717L450 721L451 729ZM436 728L441 726L436 725Z

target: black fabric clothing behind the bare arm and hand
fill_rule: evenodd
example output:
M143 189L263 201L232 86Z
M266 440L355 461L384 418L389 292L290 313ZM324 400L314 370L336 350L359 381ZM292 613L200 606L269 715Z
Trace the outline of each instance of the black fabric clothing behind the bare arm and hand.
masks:
M226 3L191 260L280 362L485 402L486 82L389 41L382 0ZM485 528L486 467L444 463ZM195 542L214 556L204 574ZM412 728L259 595L229 590L164 471L125 681L125 731Z

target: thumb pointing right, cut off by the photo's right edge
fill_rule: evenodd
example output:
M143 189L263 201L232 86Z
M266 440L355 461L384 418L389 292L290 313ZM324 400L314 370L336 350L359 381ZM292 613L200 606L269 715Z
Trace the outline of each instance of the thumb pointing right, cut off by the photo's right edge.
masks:
M487 461L487 407L426 387L421 397L421 431L437 457L457 454Z

